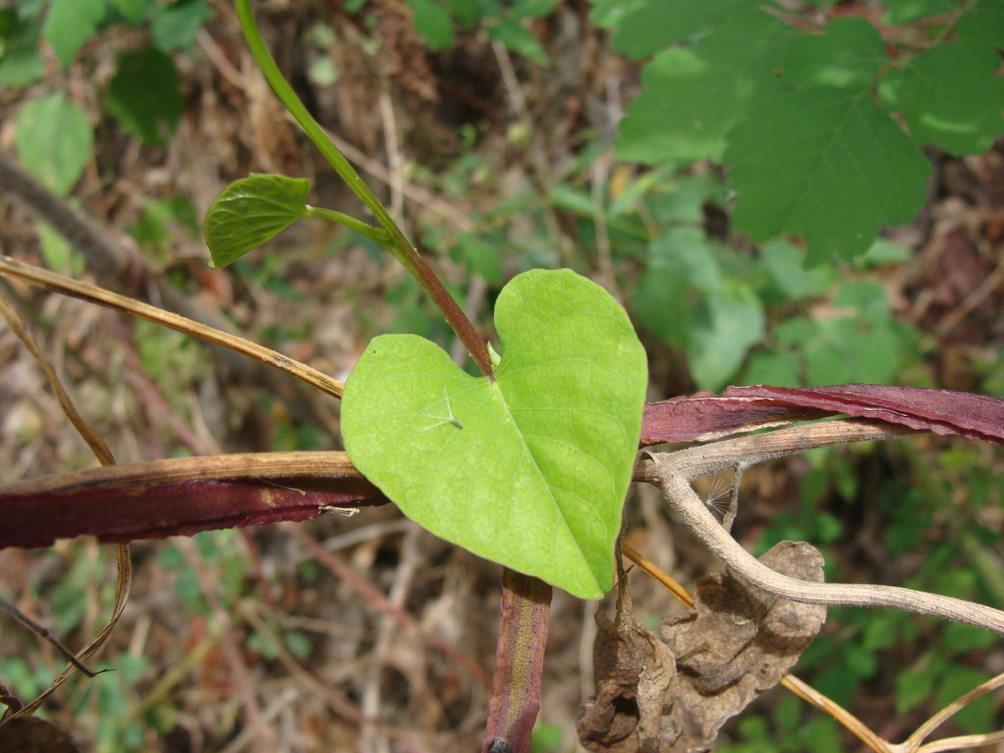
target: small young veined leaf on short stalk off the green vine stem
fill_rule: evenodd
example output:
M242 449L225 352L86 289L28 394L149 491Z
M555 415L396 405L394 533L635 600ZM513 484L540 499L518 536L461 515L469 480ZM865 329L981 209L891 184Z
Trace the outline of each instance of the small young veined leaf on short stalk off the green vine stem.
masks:
M306 217L309 190L306 178L259 173L227 186L210 205L203 224L213 266L221 269L232 264Z

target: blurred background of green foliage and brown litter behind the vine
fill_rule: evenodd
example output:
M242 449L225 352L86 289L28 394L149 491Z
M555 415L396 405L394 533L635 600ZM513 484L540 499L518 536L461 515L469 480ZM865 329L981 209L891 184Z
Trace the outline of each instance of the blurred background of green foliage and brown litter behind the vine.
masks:
M1004 397L1002 0L256 8L301 97L486 333L510 277L568 266L629 309L649 351L651 400L852 382ZM341 379L385 331L456 353L417 284L342 229L299 223L232 272L207 268L201 217L249 172L308 177L312 204L360 211L271 97L226 2L9 2L0 107L4 159L131 250L133 271L98 275L101 284L158 302L151 281L167 280L247 336ZM0 213L4 253L91 273L16 195L0 195ZM13 292L119 462L338 447L337 406L288 384L263 387L177 333ZM0 481L88 465L9 332L0 351ZM758 551L808 540L829 579L1004 606L1002 474L992 448L937 438L818 451L751 471L735 532ZM686 580L715 567L686 531L671 531L652 490L630 509L636 548L666 569ZM492 565L409 529L394 510L308 528L374 584L398 584L403 608L491 668ZM248 720L283 699L268 718L271 742L285 747L269 749L477 744L477 682L414 636L392 650L384 617L287 533L223 531L135 550L133 605L102 663L119 672L78 682L45 709L94 750L261 745ZM109 567L88 542L0 552L0 593L82 643L109 602ZM679 608L634 580L653 624ZM592 606L559 597L554 609L540 751L573 749L590 672ZM233 674L227 636L251 690ZM57 669L6 624L0 649L0 682L19 697ZM311 698L296 663L372 719ZM1004 652L961 625L834 609L797 669L900 739L1004 671ZM981 699L946 729L1000 728L1001 701ZM721 747L854 745L774 691Z

